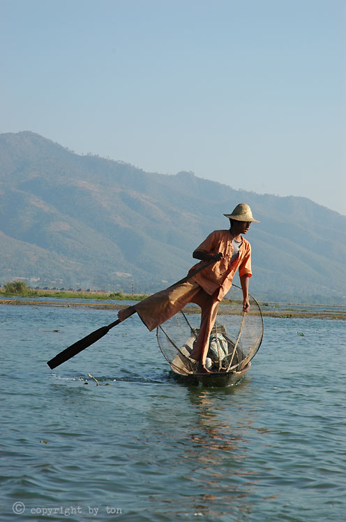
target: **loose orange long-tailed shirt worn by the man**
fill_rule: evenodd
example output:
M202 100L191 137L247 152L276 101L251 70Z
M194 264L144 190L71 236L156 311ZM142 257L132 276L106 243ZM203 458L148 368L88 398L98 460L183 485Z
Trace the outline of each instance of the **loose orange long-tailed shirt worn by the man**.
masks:
M216 230L211 232L208 237L195 249L195 252L202 251L208 254L221 252L223 259L216 261L213 265L192 277L191 279L200 287L212 295L219 290L216 298L221 300L232 287L232 279L236 270L239 268L239 276L248 275L251 277L251 247L250 243L242 237L242 244L239 249L239 256L231 263L233 247L232 235L229 230ZM200 261L197 265L190 268L189 273L200 268L206 261Z

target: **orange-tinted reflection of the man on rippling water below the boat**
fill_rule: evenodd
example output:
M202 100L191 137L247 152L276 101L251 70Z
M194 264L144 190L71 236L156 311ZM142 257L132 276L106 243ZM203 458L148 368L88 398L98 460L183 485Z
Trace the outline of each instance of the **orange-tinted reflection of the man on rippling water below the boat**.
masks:
M246 431L252 427L253 418L244 412L232 419L227 402L220 401L232 396L232 388L219 392L190 389L188 393L197 422L190 433L193 446L186 454L199 465L200 493L194 508L205 515L221 516L240 499L243 512L251 512L250 500L246 502L251 492L251 472L244 469L243 462L248 456Z

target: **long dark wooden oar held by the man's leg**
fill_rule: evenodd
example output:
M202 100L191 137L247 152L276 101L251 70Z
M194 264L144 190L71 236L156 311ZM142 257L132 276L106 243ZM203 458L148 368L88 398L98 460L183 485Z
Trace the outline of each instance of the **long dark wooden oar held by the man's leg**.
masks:
M209 261L203 266L200 266L200 268L197 268L193 273L186 275L186 277L183 277L180 281L172 284L172 287L175 287L176 284L183 284L186 281L188 281L191 277L194 275L197 275L202 270L207 268L208 266L211 266L213 263L215 263L218 260L213 259L212 261ZM170 287L171 288L171 287ZM133 310L132 314L135 313L136 310ZM130 317L130 315L128 317ZM59 354L57 354L55 357L50 359L50 361L47 362L47 365L50 367L51 370L54 368L57 368L57 366L61 365L62 363L65 363L65 361L68 361L68 359L74 357L75 355L79 354L80 351L84 350L85 348L89 347L90 345L93 345L94 342L98 341L100 338L103 338L106 333L110 331L111 328L114 328L117 324L121 323L120 319L116 319L111 324L108 324L107 326L102 326L101 328L98 328L98 330L89 333L86 337L83 339L75 342L73 345L70 345L68 348L61 351Z

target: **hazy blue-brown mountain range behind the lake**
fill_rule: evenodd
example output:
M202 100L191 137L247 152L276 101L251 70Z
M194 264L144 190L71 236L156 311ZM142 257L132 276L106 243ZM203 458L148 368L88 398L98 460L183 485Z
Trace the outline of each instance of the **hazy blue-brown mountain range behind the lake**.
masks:
M308 198L234 190L234 177L148 173L36 133L0 134L0 283L158 291L186 275L206 235L228 228L224 213L248 203L260 220L246 236L250 292L344 304L346 217Z

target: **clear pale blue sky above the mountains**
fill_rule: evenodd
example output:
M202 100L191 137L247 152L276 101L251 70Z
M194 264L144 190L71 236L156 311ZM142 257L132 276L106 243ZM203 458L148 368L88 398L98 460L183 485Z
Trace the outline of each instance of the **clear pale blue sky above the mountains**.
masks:
M345 0L0 0L0 132L346 214Z

